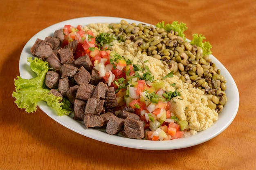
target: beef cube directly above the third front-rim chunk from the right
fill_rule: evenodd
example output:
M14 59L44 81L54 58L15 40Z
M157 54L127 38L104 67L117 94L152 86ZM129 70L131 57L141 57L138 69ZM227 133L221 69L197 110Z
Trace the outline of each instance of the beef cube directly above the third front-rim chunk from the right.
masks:
M92 113L95 115L100 115L105 113L104 102L105 100L89 98L85 107L85 114Z

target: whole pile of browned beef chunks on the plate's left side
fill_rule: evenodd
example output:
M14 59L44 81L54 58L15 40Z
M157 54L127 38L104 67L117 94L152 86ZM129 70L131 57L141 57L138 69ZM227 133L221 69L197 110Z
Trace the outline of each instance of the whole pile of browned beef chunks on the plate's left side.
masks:
M47 61L54 70L45 77L50 93L68 98L74 107L74 119L83 120L86 128L101 127L111 135L122 132L129 138L144 138L145 122L129 107L122 107L116 116L114 87L103 83L88 55L74 59L76 40L61 48L63 40L63 30L57 30L53 37L37 39L31 47L31 54Z

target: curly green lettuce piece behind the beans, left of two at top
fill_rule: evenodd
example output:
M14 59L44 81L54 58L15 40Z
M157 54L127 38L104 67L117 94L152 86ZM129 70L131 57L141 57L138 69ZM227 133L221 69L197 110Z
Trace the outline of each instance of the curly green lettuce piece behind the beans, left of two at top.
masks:
M158 28L164 28L167 32L171 30L177 31L179 33L179 36L182 37L184 40L186 40L184 31L186 31L188 27L183 22L179 23L177 21L173 21L172 24L165 24L165 22L162 21L162 22L158 22L155 26Z

